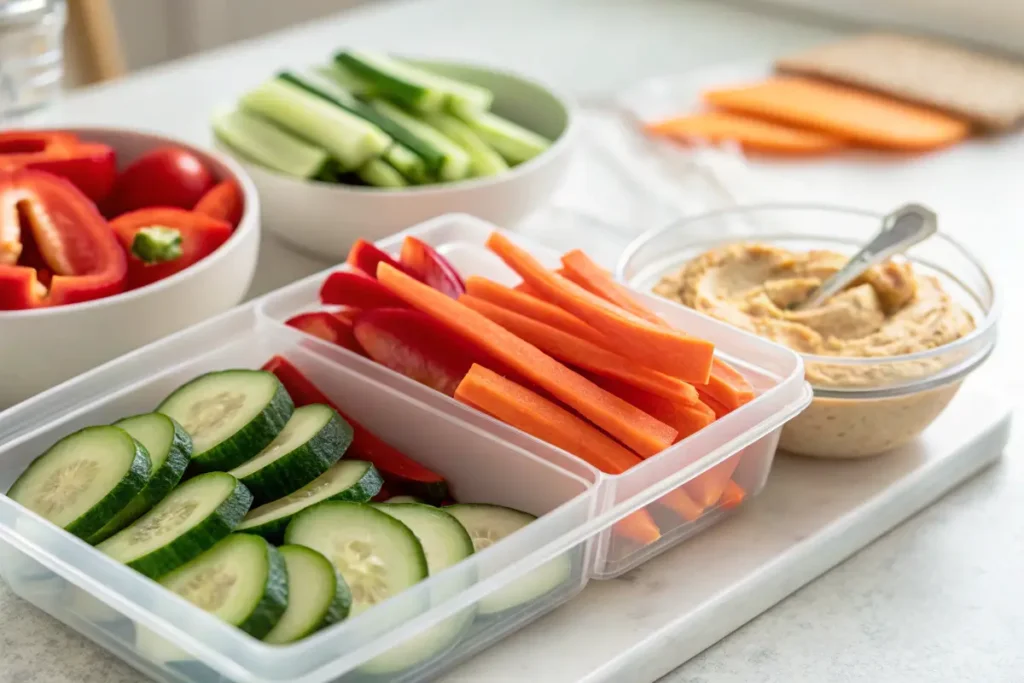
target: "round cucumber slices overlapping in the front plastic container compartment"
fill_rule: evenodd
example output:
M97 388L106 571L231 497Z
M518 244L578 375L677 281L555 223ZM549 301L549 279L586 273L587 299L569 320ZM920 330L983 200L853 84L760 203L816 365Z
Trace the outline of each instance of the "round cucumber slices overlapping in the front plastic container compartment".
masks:
M371 463L343 458L351 441L333 408L295 408L272 374L226 370L184 384L155 413L66 436L8 496L274 645L357 615L535 519L409 496L372 503L384 482ZM518 607L566 582L569 569L566 560L535 572L482 611ZM473 616L447 620L367 671L438 655Z

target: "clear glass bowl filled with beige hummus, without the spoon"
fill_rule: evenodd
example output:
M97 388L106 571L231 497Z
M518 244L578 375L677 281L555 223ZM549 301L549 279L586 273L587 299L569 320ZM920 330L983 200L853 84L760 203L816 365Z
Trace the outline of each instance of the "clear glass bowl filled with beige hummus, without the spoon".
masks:
M999 314L985 267L941 231L820 307L795 309L881 220L806 204L716 211L641 234L615 274L803 355L814 400L782 429L780 449L877 456L942 413L994 348Z

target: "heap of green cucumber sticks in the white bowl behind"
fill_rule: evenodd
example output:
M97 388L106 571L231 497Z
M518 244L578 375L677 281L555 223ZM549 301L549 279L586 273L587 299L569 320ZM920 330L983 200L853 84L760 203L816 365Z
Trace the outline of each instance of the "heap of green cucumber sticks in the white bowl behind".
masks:
M493 176L551 145L490 112L494 94L378 52L286 71L217 112L217 138L298 178L407 187Z

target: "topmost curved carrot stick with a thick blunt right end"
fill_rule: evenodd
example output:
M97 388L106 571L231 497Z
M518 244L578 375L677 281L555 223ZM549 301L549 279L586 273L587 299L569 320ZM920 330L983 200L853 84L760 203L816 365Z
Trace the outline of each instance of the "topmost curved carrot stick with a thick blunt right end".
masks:
M715 353L715 345L711 342L687 337L622 310L579 285L548 271L529 253L500 232L490 233L487 248L542 297L603 333L611 350L688 382L708 382Z

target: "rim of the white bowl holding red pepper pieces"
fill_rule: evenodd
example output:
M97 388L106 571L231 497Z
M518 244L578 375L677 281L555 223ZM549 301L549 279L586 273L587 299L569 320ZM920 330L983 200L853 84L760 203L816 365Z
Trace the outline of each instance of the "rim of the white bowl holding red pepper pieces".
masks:
M242 243L244 239L249 234L249 232L256 231L259 232L260 229L260 211L259 211L259 193L256 189L256 184L252 177L245 170L245 168L238 163L233 158L219 152L216 150L207 150L204 147L197 146L190 142L184 140L169 137L163 133L158 133L155 131L146 130L144 128L134 128L134 127L113 127L113 126L61 126L61 127L47 127L45 130L61 130L78 133L80 135L135 135L140 137L150 138L155 142L155 146L170 144L188 150L199 154L200 156L210 157L217 163L224 166L230 174L229 178L221 178L221 180L232 179L242 186L242 196L245 200L245 206L243 207L242 218L239 220L238 226L232 230L231 237L227 239L227 242L222 244L216 251L202 259L198 263L194 263L184 270L175 272L173 275L164 278L155 283L151 283L144 287L140 287L135 290L130 290L128 292L122 292L120 294L115 294L114 296L103 297L101 299L93 299L91 301L82 301L80 303L67 304L63 306L46 306L43 308L25 308L19 310L0 310L0 324L4 321L11 319L25 319L32 317L46 317L49 315L59 315L61 313L68 312L79 312L86 310L95 310L99 308L104 308L108 306L114 306L122 302L131 301L134 299L140 299L151 294L160 292L161 290L174 287L176 284L185 281L190 276L195 276L200 272L208 270L214 267L214 264L221 261L226 257L226 254L232 251L239 244Z

